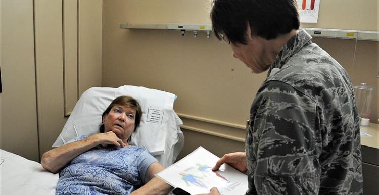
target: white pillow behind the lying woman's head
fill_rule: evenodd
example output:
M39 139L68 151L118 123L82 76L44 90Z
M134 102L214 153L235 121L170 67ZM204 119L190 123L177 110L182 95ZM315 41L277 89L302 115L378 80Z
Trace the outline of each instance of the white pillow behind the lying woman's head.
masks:
M131 136L130 144L144 146L150 154L164 154L166 142L177 140L177 124L180 119L173 111L175 94L145 87L124 85L118 88L92 87L86 90L76 103L61 134L53 144L59 147L79 135L99 133L102 114L118 96L128 95L136 99L142 109L139 126Z

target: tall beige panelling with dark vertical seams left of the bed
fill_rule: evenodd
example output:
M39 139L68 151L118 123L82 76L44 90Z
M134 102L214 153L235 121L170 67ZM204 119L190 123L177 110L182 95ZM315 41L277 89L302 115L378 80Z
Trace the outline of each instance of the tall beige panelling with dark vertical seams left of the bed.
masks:
M38 162L62 130L65 108L102 84L102 0L0 4L1 148Z

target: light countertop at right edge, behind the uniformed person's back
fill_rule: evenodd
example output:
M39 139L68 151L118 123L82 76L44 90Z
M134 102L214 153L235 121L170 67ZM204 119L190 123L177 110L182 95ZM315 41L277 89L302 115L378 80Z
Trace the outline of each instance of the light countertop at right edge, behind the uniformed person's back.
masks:
M379 149L379 124L370 123L368 126L361 126L361 145ZM370 136L362 135L362 132Z

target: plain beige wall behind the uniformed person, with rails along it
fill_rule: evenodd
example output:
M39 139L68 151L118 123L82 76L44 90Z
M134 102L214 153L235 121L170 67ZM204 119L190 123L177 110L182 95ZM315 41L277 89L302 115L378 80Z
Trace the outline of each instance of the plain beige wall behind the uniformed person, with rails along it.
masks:
M362 2L323 1L319 23L302 26L377 31L377 1ZM348 12L338 12L339 5ZM227 44L205 33L194 38L192 32L181 36L178 31L119 29L118 24L210 23L209 8L208 0L103 1L103 86L141 85L177 94L174 109L184 121L186 137L181 156L198 145L217 154L243 150L250 105L266 74L250 73ZM314 42L341 62L354 84L377 86L379 42Z

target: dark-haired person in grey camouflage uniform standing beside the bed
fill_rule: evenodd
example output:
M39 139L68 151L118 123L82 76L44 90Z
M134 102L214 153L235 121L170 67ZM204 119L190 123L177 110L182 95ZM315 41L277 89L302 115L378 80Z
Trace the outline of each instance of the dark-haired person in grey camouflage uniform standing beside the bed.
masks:
M214 0L220 40L254 73L268 70L250 110L246 194L362 194L359 118L345 69L299 30L295 0ZM210 194L219 194L212 190Z

